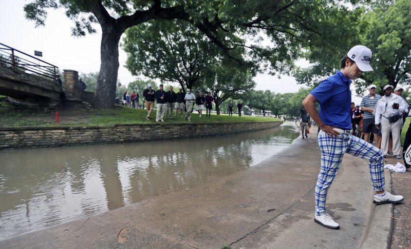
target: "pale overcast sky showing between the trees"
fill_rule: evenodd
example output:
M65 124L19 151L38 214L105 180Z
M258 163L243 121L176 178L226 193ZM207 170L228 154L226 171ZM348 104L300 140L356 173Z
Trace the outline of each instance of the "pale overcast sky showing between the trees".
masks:
M49 10L46 25L35 28L34 22L24 17L23 6L32 1L0 0L0 43L34 55L34 50L43 52L44 61L80 73L100 70L100 26L96 34L85 37L71 36L73 23L63 10ZM124 68L126 54L119 49L120 68L118 78L122 84L136 79ZM296 92L301 87L293 77L282 75L281 79L268 74L257 75L256 90L270 90L276 93ZM351 89L353 91L353 89ZM353 96L354 102L361 98Z

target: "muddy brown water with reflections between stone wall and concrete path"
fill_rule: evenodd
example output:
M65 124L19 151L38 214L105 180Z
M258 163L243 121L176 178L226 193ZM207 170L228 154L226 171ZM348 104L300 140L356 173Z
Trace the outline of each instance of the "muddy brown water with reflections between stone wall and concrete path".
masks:
M253 167L297 135L288 123L220 137L0 151L0 240Z

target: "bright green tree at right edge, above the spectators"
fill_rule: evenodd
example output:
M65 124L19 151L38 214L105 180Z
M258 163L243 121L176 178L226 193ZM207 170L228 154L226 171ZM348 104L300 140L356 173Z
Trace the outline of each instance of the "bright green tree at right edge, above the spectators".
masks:
M411 85L411 2L377 1L362 18L362 41L372 51L373 72L362 75L360 93L369 84Z

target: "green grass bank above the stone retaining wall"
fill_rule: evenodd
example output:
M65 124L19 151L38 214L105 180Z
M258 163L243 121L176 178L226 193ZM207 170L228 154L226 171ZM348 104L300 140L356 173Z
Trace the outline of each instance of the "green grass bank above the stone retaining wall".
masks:
M204 110L205 111L205 110ZM59 123L55 112L59 115ZM185 113L184 113L185 114ZM156 110L152 113L152 120L145 119L147 116L146 109L133 109L124 106L118 106L114 109L95 109L85 105L55 108L53 110L31 110L10 105L5 99L0 98L0 127L24 127L24 126L96 126L110 125L116 123L151 123L155 122ZM194 123L214 123L214 122L259 122L259 121L278 121L278 118L238 115L228 116L227 114L216 115L211 117L205 114L199 118L196 111L192 113L191 122ZM183 123L180 115L173 119L164 119L167 123Z

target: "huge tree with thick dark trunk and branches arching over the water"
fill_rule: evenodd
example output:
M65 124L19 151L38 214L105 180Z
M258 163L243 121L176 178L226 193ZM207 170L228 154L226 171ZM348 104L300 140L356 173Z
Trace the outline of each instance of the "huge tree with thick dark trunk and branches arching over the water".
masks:
M357 0L352 0L358 2ZM249 49L248 59L261 61L272 72L288 71L301 47L328 39L329 33L341 34L342 24L351 25L350 10L337 0L35 0L25 6L26 17L44 25L48 8L64 8L73 19L74 35L95 32L92 23L102 30L101 66L96 104L110 108L114 102L119 68L119 41L130 27L155 19L181 19L207 35L227 56L244 64L243 58L231 54L237 47ZM345 15L344 22L334 22L333 15ZM349 22L347 22L349 20ZM324 35L320 38L322 30ZM340 32L340 33L339 33ZM247 43L238 39L247 38ZM260 45L268 37L271 47ZM252 40L253 42L250 42Z

